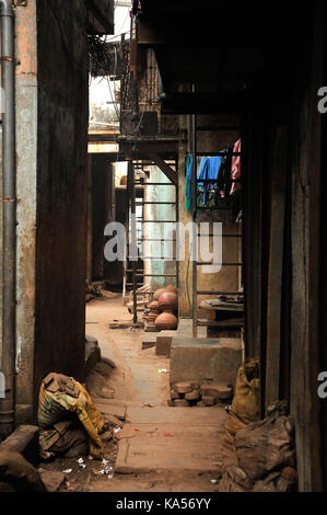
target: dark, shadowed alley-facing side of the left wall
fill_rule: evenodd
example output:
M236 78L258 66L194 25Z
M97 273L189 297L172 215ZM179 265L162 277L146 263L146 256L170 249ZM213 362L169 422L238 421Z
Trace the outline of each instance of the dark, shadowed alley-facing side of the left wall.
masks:
M82 0L37 2L35 393L82 378L87 213L87 42ZM65 358L63 358L65 356Z

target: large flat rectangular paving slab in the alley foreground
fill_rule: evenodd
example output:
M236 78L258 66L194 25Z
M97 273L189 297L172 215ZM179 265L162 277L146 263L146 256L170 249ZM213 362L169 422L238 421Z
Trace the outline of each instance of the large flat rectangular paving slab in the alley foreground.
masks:
M225 417L221 408L129 407L115 470L218 473Z

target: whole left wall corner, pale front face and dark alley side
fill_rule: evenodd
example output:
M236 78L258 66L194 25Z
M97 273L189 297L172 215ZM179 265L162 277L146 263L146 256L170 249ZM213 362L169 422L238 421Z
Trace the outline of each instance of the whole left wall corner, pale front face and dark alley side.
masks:
M87 186L85 7L15 9L16 424L48 371L82 378ZM63 358L65 356L65 358Z

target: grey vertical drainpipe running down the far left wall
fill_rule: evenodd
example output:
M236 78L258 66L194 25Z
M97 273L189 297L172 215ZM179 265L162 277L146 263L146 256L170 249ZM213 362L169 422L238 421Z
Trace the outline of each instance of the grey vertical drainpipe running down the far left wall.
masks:
M4 90L2 115L2 371L5 399L0 399L0 436L14 428L14 360L16 340L16 176L14 110L14 21L11 0L0 0L1 81Z

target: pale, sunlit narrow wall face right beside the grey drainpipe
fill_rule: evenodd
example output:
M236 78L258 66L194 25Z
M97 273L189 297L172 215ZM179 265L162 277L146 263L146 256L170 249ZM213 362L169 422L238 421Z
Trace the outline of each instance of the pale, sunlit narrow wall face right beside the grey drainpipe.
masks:
M16 185L17 185L17 307L16 424L32 421L35 227L37 160L36 2L15 9L16 57Z

